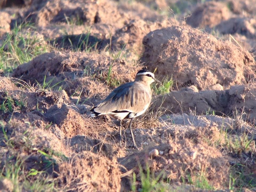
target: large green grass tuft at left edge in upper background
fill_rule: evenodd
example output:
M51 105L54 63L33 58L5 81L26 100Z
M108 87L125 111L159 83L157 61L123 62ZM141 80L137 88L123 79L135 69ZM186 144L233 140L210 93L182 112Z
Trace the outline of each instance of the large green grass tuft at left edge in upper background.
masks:
M49 50L49 45L38 37L33 25L16 25L0 44L0 70L12 72L17 66Z

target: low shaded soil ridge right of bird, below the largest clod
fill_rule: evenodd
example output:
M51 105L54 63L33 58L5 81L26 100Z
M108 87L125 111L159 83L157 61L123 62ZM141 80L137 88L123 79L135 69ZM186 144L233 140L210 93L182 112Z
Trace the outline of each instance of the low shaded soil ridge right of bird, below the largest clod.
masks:
M243 119L255 123L255 84L232 86L228 90L172 91L157 98L156 105L162 105L167 112L178 114L242 115ZM214 111L214 112L213 112ZM246 114L246 115L245 115Z

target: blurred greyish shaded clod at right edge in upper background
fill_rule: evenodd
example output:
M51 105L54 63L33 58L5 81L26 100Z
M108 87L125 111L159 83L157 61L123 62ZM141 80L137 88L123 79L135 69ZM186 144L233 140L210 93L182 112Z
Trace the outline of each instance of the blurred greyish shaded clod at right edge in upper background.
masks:
M217 25L216 30L221 34L238 33L253 39L256 37L256 20L247 17L230 18Z

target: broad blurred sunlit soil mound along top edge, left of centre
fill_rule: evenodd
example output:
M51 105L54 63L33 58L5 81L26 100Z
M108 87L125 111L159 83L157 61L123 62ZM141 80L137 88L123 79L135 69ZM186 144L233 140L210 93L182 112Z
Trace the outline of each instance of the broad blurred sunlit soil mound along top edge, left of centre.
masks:
M33 1L24 16L16 21L19 20L32 21L38 26L67 21L87 25L101 22L122 26L127 18L117 10L117 5L113 1L57 0L41 3Z

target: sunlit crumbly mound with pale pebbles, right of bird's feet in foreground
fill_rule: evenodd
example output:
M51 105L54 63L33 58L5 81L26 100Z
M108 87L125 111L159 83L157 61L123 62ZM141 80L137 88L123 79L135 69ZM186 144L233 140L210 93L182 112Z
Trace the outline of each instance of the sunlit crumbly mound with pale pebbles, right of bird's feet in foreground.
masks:
M152 159L148 155L148 151L152 149L165 151L165 153ZM196 155L193 155L195 151L197 151ZM165 177L173 183L179 182L181 176L186 179L187 173L199 173L202 167L206 169L205 177L209 179L214 187L225 186L223 181L229 178L228 160L217 149L201 140L193 143L187 138L179 141L169 141L167 144L127 155L121 158L119 163L125 166L127 170L134 167L138 168L138 163L140 163L143 170L146 170L148 165L155 176L161 174L161 171L164 170Z

